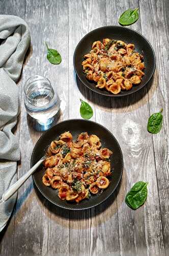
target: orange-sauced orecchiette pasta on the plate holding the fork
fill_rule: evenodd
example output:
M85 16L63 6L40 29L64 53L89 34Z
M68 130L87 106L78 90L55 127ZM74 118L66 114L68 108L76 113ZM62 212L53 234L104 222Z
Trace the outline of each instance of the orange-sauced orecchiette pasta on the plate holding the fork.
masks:
M111 175L109 157L112 152L102 148L100 139L88 133L79 134L73 141L72 134L65 132L59 140L51 142L49 157L44 161L45 174L42 182L58 189L61 200L79 203L97 194L109 185Z

